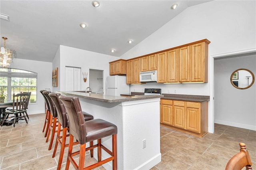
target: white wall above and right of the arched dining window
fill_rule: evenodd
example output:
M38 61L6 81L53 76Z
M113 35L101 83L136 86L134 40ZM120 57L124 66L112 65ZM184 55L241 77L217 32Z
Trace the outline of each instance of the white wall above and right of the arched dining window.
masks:
M29 104L27 112L28 115L44 113L44 98L40 90L46 88L52 90L52 63L14 58L10 67L37 73L37 103Z

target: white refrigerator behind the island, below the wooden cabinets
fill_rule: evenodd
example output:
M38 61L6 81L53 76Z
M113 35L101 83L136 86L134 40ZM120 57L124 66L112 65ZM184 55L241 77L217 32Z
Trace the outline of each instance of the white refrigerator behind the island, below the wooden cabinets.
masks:
M106 80L106 95L120 96L129 94L130 85L126 84L126 76L112 75Z

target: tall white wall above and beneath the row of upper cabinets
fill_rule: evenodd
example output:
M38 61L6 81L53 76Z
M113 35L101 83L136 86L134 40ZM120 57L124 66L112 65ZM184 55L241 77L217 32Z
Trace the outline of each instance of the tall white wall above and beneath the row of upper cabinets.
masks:
M209 132L214 132L212 56L256 47L256 1L222 0L191 6L166 23L144 41L121 56L130 59L163 49L207 38L209 44L208 83L131 85L131 91L146 87L162 88L162 93L210 95ZM211 88L211 89L210 89Z

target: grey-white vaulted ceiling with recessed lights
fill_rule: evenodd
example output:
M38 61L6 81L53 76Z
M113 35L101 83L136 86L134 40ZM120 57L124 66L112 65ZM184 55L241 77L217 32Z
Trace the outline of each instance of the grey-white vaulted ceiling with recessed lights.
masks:
M1 37L20 59L52 62L59 45L119 57L186 8L209 0L98 1L94 7L92 0L0 0L0 13L9 16L0 19Z

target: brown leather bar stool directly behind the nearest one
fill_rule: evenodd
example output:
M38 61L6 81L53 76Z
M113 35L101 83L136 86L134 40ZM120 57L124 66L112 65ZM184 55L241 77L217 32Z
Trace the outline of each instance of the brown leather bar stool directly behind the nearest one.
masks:
M66 109L65 109L63 103L58 98L60 96L60 94L59 93L49 93L49 96L55 105L57 115L58 115L58 123L59 123L59 125L62 126L62 136L60 136L61 126L58 126L56 143L55 143L55 147L54 147L54 152L52 154L52 158L54 158L58 144L60 144L60 146L61 146L60 157L59 157L58 167L57 167L57 170L60 170L60 167L62 164L62 159L63 159L63 154L64 154L64 149L65 149L65 147L68 147L68 145L69 145L69 144L66 144L66 137L69 136L69 134L67 134L67 130L69 130L68 119L67 119ZM83 116L84 116L84 121L89 121L89 120L93 119L93 116L86 112L83 112ZM78 144L78 143L79 142L75 142L74 144ZM90 142L90 146L92 146L92 145L93 145L93 142ZM93 157L93 152L91 152L91 156Z

